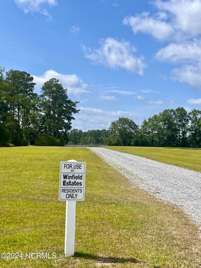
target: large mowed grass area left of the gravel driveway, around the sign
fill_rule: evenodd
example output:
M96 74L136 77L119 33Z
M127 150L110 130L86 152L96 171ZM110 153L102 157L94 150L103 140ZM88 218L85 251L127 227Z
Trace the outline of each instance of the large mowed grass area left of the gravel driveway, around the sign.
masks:
M75 255L66 258L59 166L71 159L86 162L86 184L85 201L76 205ZM87 148L0 148L0 185L0 253L22 253L19 259L0 258L1 268L201 265L198 227L179 208L133 187Z

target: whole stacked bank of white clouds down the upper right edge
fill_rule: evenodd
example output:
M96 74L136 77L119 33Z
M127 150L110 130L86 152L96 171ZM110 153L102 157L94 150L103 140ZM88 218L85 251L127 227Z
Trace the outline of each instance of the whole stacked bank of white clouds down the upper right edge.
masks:
M143 32L168 42L155 58L179 65L171 71L171 79L201 89L201 0L154 0L151 4L155 13L127 16L123 24L134 34Z

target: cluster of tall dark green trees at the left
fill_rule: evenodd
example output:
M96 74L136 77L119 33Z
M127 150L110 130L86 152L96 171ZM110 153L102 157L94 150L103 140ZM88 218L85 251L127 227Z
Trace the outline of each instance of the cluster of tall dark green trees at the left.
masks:
M64 145L79 101L52 78L34 92L33 77L0 67L0 146Z

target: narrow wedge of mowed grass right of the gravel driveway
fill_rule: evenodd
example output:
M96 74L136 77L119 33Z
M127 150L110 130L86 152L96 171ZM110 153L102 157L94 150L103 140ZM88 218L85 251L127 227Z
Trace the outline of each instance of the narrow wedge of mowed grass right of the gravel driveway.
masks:
M107 149L201 172L201 150L190 148L108 146Z

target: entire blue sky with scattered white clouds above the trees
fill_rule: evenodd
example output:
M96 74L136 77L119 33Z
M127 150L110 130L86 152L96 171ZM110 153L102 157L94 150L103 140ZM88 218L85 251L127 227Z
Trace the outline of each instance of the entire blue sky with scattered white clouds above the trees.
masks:
M201 0L0 0L0 66L59 79L73 128L201 109Z

